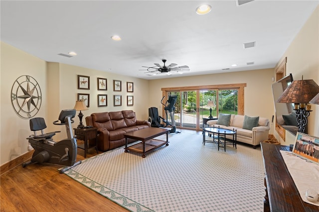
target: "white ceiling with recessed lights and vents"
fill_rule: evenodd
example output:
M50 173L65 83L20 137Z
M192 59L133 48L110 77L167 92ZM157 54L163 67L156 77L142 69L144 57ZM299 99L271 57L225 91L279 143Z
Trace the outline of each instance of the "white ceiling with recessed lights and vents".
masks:
M49 62L159 79L273 68L319 1L254 0L240 6L236 0L0 3L5 43ZM195 12L202 3L212 6L206 15ZM123 39L113 41L114 34ZM243 43L254 41L256 47L243 48ZM57 55L70 51L78 55ZM161 59L191 71L171 76L139 71L162 64Z

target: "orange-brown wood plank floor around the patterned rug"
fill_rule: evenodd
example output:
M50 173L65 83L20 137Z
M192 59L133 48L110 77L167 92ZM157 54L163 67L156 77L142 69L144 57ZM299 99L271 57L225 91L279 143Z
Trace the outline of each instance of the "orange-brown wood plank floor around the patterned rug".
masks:
M179 130L178 131L184 131ZM187 130L193 133L201 131ZM99 152L101 153L101 152ZM89 150L87 157L96 155ZM84 159L78 149L77 160ZM0 176L1 212L127 212L126 209L57 171L59 165L18 166Z

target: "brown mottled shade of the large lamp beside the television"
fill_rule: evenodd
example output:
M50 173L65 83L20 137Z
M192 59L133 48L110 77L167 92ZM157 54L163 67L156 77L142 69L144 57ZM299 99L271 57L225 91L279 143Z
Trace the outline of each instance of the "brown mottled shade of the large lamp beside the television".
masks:
M278 103L307 104L319 93L314 80L294 80L278 98Z

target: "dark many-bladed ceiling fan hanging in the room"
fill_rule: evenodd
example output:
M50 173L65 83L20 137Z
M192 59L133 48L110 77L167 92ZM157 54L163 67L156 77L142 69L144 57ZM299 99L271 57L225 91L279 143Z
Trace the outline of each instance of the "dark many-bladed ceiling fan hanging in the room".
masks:
M169 66L165 66L166 60L162 59L161 61L164 63L163 66L161 66L158 63L154 63L154 65L156 66L153 66L153 67L142 66L147 69L141 69L141 71L147 71L145 73L147 73L150 76L161 74L161 73L167 73L167 75L171 75L170 73L171 71L174 71L178 74L182 74L184 71L190 71L188 66L177 66L177 64L175 63L171 63Z

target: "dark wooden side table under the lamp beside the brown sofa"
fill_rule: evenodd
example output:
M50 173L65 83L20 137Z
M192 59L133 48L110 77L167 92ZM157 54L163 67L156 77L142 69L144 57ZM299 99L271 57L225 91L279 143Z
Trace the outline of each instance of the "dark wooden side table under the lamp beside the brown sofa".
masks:
M98 146L97 146L97 136L98 136L98 128L91 127L91 128L74 128L74 134L76 138L79 140L83 140L84 144L78 144L78 148L84 149L84 157L86 158L86 153L88 149L95 148L96 153L98 153ZM95 144L90 144L89 140L95 140Z

